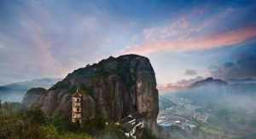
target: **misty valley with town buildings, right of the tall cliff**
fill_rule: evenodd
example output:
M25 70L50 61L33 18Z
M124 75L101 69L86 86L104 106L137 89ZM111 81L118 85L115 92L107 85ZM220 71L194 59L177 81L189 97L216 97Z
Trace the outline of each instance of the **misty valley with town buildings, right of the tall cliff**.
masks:
M244 86L247 89L242 89ZM160 100L173 105L160 109L158 124L165 133L166 130L170 133L166 138L251 139L256 131L256 109L252 106L256 90L253 89L254 84L210 84L165 93Z

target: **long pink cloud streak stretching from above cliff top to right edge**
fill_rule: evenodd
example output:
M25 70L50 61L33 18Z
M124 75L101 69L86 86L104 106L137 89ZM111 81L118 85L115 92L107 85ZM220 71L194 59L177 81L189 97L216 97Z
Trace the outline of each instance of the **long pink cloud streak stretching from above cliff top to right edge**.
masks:
M224 32L206 38L189 38L188 40L173 41L146 41L140 45L132 46L125 54L148 55L161 51L189 51L214 49L244 43L256 37L256 26L244 27L235 31Z

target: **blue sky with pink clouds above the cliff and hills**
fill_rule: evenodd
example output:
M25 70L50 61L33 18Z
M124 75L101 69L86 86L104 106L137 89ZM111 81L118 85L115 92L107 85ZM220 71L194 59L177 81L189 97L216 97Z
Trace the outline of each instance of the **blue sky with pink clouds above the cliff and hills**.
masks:
M158 84L256 78L256 2L0 0L0 84L144 55Z

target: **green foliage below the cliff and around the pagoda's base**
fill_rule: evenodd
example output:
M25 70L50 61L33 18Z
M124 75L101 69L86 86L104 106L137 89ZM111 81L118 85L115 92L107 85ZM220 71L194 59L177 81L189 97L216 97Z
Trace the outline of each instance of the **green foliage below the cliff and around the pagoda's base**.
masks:
M2 139L127 139L119 126L106 119L84 120L83 125L61 118L46 117L37 107L24 111L20 103L4 103L0 109L0 138ZM155 138L145 130L141 139Z

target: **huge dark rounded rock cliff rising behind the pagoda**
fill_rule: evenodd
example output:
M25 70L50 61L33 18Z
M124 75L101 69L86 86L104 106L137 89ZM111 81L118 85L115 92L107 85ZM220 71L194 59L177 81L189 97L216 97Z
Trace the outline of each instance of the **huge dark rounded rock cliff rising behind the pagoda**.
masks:
M109 57L79 68L49 90L28 90L23 104L38 105L44 113L71 117L71 96L83 92L83 118L103 117L118 121L130 113L141 113L154 128L159 111L154 70L148 58L139 55Z

